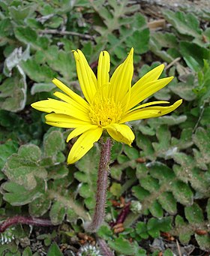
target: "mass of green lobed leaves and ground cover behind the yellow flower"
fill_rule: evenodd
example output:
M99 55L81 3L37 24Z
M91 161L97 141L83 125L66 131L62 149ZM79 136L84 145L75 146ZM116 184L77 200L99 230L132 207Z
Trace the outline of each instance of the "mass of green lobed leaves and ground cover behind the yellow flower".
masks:
M53 97L53 77L80 93L71 50L83 50L96 71L101 50L114 69L130 47L133 82L163 62L163 77L175 79L154 98L184 103L169 116L133 122L132 148L114 144L98 236L116 255L208 255L210 11L194 11L126 0L0 1L1 221L25 215L55 225L9 227L1 255L86 255L83 244L95 244L95 236L84 238L83 221L95 205L98 145L67 166L69 131L45 125L30 104ZM118 233L110 223L124 209Z

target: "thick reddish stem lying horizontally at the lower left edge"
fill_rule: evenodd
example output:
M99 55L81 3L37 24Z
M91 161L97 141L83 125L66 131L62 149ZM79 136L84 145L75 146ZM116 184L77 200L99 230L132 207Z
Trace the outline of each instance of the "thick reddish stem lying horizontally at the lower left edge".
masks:
M7 218L4 222L0 224L0 233L5 232L7 227L10 227L14 224L28 224L34 226L52 226L52 222L44 218L33 218L33 217L24 217L24 216L13 216Z

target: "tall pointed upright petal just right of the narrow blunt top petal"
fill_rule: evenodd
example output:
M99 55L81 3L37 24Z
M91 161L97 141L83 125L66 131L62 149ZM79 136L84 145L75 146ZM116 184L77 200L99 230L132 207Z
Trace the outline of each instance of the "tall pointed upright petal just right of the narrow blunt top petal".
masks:
M110 79L110 96L115 102L121 101L131 87L133 77L133 48L131 48L125 61L118 66Z

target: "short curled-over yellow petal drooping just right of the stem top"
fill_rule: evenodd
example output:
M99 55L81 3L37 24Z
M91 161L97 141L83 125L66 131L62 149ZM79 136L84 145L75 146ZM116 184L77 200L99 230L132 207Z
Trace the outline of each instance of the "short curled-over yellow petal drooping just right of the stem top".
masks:
M114 140L121 143L126 143L129 146L135 138L133 131L127 125L111 124L107 125L106 129Z

